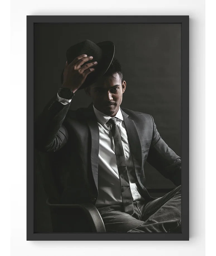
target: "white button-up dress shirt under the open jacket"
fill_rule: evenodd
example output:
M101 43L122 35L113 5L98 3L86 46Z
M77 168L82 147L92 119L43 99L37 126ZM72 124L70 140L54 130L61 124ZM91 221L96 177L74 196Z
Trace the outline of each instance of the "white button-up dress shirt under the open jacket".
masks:
M98 155L98 198L97 207L117 205L122 203L121 183L118 175L118 167L115 155L115 145L111 126L106 125L111 118L98 111L94 106L94 113L98 120L99 127L99 155ZM133 200L144 200L137 190L137 178L135 175L134 164L128 144L127 132L123 122L122 112L119 108L115 118L118 118L116 125L119 128L122 138L122 146L128 170L130 189Z

